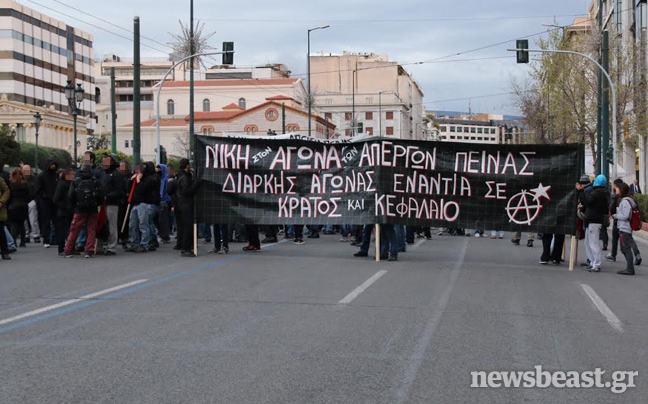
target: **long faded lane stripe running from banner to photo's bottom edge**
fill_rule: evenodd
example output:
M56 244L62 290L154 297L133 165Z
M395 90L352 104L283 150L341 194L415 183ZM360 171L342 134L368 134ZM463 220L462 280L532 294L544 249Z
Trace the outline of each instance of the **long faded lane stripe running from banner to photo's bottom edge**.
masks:
M408 359L409 363L407 364L407 368L405 369L405 375L403 375L403 378L401 379L402 382L400 384L400 387L396 391L396 400L394 401L396 404L403 404L407 401L410 390L412 389L412 385L416 380L416 375L418 374L418 371L421 368L421 365L423 364L423 359L425 358L425 352L427 352L428 346L430 345L430 341L432 340L432 336L436 332L437 326L441 321L441 316L443 315L445 307L448 305L448 302L450 301L450 294L452 293L452 290L454 289L455 284L457 283L457 278L459 277L459 273L461 272L461 267L463 266L464 263L464 258L466 257L466 250L468 249L469 239L467 240L464 237L463 240L464 242L460 247L461 250L459 251L459 257L455 262L454 267L452 268L452 272L450 273L450 280L448 281L448 286L446 286L443 289L443 294L439 298L439 301L437 302L436 306L434 307L434 310L432 311L432 317L430 317L430 319L428 320L428 323L425 326L425 330L423 330L423 334L421 335L421 337L416 343L416 346L414 347L414 352L412 352L412 356L410 356Z

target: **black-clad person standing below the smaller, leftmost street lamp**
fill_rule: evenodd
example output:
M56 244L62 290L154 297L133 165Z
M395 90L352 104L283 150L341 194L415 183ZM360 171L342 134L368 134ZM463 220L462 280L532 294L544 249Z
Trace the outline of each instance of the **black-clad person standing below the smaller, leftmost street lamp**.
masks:
M45 170L36 178L36 198L38 202L39 227L43 239L43 247L49 248L52 244L52 220L56 218L56 204L54 203L54 192L58 182L58 163L49 159L45 163ZM56 230L56 227L54 228Z

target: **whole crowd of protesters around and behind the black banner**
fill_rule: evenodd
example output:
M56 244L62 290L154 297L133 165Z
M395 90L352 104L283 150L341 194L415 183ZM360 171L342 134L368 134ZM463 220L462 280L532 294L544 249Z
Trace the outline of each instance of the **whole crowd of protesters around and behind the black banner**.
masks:
M44 170L33 175L29 165L21 164L11 172L0 170L0 253L9 260L11 252L27 243L42 243L44 248L58 247L61 257L97 254L116 255L121 245L126 252L153 252L160 243L176 244L183 257L194 254L194 195L201 181L194 178L189 160L177 167L145 162L131 168L127 161L92 152L83 155L78 168L61 168L48 160ZM581 264L590 272L600 272L602 251L609 245L608 227L612 226L611 252L604 258L616 261L620 251L626 260L622 275L634 275L642 258L633 239L633 216L638 215L633 195L641 193L637 182L626 184L617 179L608 190L607 179L597 176L592 182L586 175L576 184L577 216L585 239L587 261ZM638 220L638 219L637 219ZM443 229L439 235L484 236L477 223L474 231ZM212 230L213 229L213 230ZM228 254L230 241L247 242L246 252L261 251L262 243L276 243L278 237L305 244L304 237L316 239L323 234L339 233L340 241L359 247L356 257L369 256L374 225L364 226L231 226L222 223L199 224L198 233L214 248L211 253ZM636 229L634 229L636 230ZM261 241L259 233L264 233ZM375 237L375 236L374 236ZM416 237L431 239L429 227L383 224L380 226L381 259L397 261ZM504 238L501 230L492 230L493 239ZM559 265L563 259L564 234L540 234L541 264ZM522 233L512 238L519 245ZM534 233L526 235L533 247Z

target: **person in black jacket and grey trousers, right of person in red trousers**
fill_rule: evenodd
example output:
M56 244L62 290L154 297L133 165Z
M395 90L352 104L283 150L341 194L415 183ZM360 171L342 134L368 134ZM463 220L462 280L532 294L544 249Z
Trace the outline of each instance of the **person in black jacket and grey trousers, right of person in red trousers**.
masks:
M124 200L124 175L119 171L119 164L110 155L103 158L104 174L101 187L106 195L106 219L108 220L108 245L105 255L115 255L119 228L119 206Z

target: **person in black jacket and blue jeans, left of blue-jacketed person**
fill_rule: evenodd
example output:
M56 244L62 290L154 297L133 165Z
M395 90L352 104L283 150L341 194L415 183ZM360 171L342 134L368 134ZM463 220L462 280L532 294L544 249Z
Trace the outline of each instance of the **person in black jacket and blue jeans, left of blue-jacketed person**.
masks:
M131 247L128 252L143 253L154 251L155 248L150 246L151 242L151 214L153 213L152 205L156 199L159 200L159 188L157 188L157 178L155 175L155 166L152 162L146 162L135 168L135 175L131 178L135 181L133 188L133 199L131 201L131 213L129 223ZM157 190L157 195L156 195Z

